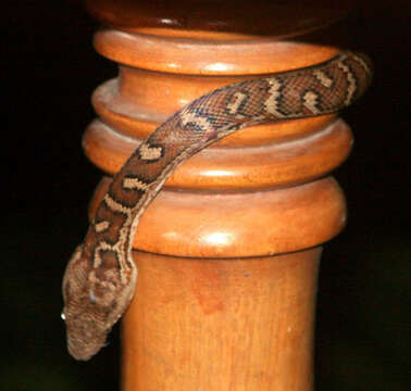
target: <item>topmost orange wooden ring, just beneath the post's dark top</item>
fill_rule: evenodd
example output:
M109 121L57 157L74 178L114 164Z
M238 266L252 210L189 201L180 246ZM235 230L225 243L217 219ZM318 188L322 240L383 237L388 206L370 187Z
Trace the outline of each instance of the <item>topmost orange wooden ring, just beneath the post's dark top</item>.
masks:
M337 53L333 47L292 40L196 41L165 33L153 37L104 28L94 43L98 52L121 64L183 75L267 74L323 62Z

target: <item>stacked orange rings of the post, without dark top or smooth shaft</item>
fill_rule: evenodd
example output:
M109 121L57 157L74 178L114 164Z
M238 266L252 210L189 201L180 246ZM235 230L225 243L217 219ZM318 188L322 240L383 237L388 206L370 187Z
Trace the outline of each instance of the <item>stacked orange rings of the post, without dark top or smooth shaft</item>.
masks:
M119 77L99 87L94 94L94 105L101 121L96 121L88 127L83 146L88 157L108 174L115 173L138 146L139 140L147 137L157 125L198 96L227 83L257 77L273 70L315 64L329 59L338 51L332 47L277 41L276 38L271 40L265 38L264 41L233 40L219 43L219 41L198 41L165 35L166 31L162 37L147 37L139 34L116 33L113 29L97 33L96 48L102 54L136 66L122 65ZM147 40L150 41L150 55L145 52ZM107 46L107 42L110 45ZM237 72L244 73L246 67L241 68L242 58L235 58L238 46L247 47L249 52L257 50L260 55L259 61L247 65L248 73L241 76ZM202 52L204 48L208 50L207 55ZM212 48L224 48L224 50L213 51ZM130 60L130 53L139 53L140 50L140 55L135 56L138 61ZM169 58L178 59L178 53L182 52L188 66L185 71L195 75L187 75L184 72L182 74L182 68L178 66L172 73L172 68L167 67ZM152 61L155 53L158 59L154 65ZM164 53L170 54L164 58ZM220 64L216 60L219 55L227 58L232 55L232 61L237 67L222 67L219 70L220 76L209 75L207 72L209 65L215 67L215 64ZM200 68L197 65L192 66L198 58L204 62ZM247 55L244 59L247 59ZM316 223L320 216L325 216L324 229L320 229L321 234L314 229L315 224L297 223L299 217L296 217L296 226L300 229L297 237L303 240L294 239L296 231L289 229L292 225L288 222L289 214L286 211L289 211L290 203L284 210L278 206L273 207L277 203L274 201L278 200L277 197L282 200L291 200L289 195L282 194L294 194L299 190L275 189L308 182L326 175L346 159L351 143L349 127L341 119L336 121L335 115L240 130L200 152L175 172L165 184L165 187L173 191L158 197L152 207L148 209L141 218L135 245L137 249L161 254L229 257L274 254L300 250L306 244L308 247L321 244L335 236L344 226L344 198L339 189L333 188L335 184L332 181L334 185L327 187L325 193L323 190L319 192L310 190L307 193L309 195L301 198L306 207L301 213L307 220ZM321 186L320 188L323 189ZM182 190L185 192L182 193ZM254 194L250 192L262 190L264 195L261 198L266 200L267 204L258 206L258 202L253 203L258 198L252 199ZM216 193L204 194L198 191L216 191ZM231 194L221 194L226 191ZM237 201L233 202L229 197L237 197ZM317 203L316 200L324 197L331 202ZM94 202L95 205L99 197ZM186 206L183 206L182 200ZM282 204L285 205L284 202ZM247 213L244 205L248 207ZM334 211L333 213L328 213L327 205ZM224 214L220 212L222 207ZM179 210L186 213L179 212L177 222L182 225L177 229L175 213ZM161 213L157 214L155 211ZM210 226L209 223L201 222L201 211L204 211L205 216L213 216L214 224ZM227 222L232 218L234 220L227 226ZM146 225L145 222L149 224ZM270 229L266 229L261 222L264 222ZM203 228L201 232L198 226ZM229 241L229 245L221 245L203 239L213 237L220 229L226 232L228 228L234 229L228 235L234 238ZM325 234L327 230L329 231ZM261 235L260 231L267 235ZM198 239L194 238L192 232L199 234ZM247 232L257 232L256 238ZM189 245L184 244L184 238L187 238ZM295 245L291 244L294 242Z

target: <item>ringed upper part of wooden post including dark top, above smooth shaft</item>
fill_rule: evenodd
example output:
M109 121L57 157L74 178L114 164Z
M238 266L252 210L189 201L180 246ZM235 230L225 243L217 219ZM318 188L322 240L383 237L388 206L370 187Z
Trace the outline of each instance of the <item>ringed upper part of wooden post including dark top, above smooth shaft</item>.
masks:
M199 96L335 55L337 47L299 36L338 21L348 2L338 12L307 4L88 1L104 23L96 49L120 64L119 77L94 94L100 119L84 136L88 157L112 175L157 126ZM141 217L135 248L229 257L321 244L344 227L345 203L334 180L313 180L338 166L351 143L349 127L335 114L242 129L175 172Z

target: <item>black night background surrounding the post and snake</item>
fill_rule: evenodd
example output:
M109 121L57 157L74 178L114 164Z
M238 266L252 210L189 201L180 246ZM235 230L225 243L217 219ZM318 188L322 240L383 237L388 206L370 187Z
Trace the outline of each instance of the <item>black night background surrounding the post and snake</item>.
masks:
M115 390L119 333L88 363L65 350L61 277L87 228L100 173L83 155L90 93L116 68L91 47L79 1L2 9L0 390ZM370 2L349 20L375 79L344 117L356 146L335 175L349 225L325 245L316 390L409 390L410 137L407 2ZM5 118L5 126L4 126ZM182 390L184 391L184 390Z

